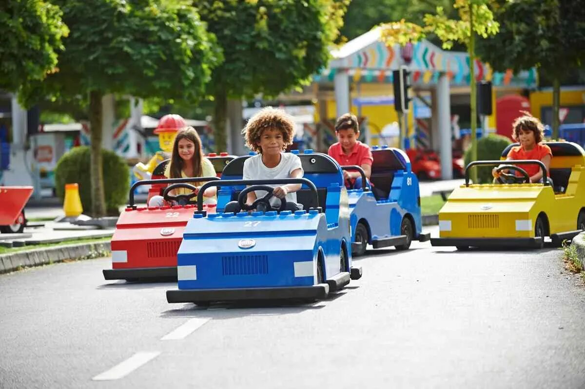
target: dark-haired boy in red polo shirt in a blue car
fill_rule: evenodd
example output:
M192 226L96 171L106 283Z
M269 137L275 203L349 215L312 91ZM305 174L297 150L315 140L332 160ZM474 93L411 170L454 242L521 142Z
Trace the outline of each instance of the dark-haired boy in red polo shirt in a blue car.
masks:
M338 143L329 147L329 154L339 165L358 165L366 173L367 185L370 185L371 164L374 158L370 148L357 140L360 130L357 126L357 117L351 113L343 114L335 123L335 135ZM361 189L362 175L356 171L343 171L347 189Z

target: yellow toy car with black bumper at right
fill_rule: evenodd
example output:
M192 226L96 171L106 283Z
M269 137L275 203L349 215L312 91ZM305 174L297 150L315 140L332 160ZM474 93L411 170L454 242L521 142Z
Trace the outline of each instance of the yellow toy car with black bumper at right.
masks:
M541 161L475 161L465 169L465 185L453 190L439 211L439 238L433 246L456 246L459 250L474 247L542 248L545 237L554 246L572 239L585 230L585 151L575 143L546 143L552 151L550 183L529 182L521 168ZM511 144L502 153L505 159ZM505 175L517 183L470 184L469 168L476 165L500 165L522 177Z

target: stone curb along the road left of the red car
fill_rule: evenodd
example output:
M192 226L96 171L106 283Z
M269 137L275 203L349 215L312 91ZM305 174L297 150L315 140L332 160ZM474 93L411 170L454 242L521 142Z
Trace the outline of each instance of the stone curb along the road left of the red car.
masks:
M108 256L110 251L110 242L97 242L69 244L2 254L0 255L0 274L67 260L101 258L102 256Z

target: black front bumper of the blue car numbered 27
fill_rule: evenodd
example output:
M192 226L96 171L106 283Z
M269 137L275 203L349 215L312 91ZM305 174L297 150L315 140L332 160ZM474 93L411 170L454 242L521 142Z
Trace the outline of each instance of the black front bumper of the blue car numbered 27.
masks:
M312 286L167 290L169 303L210 303L212 301L281 300L302 298L321 300L329 295L328 284Z

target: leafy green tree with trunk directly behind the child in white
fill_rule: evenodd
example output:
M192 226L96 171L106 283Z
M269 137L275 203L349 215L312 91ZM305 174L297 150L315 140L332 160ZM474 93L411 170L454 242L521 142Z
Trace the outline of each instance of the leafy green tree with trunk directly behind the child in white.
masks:
M201 19L223 48L213 73L214 137L226 147L228 98L276 96L307 85L329 60L347 0L199 0Z

